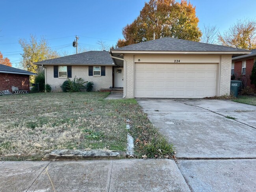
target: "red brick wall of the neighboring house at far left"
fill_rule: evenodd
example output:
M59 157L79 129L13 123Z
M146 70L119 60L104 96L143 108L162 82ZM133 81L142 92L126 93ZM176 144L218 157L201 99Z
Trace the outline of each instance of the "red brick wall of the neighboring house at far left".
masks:
M29 75L0 73L0 90L9 89L12 92L11 86L19 90L30 90Z

